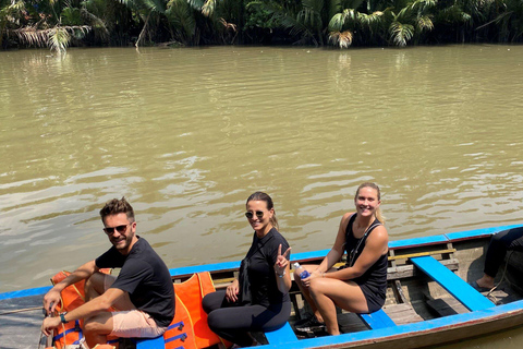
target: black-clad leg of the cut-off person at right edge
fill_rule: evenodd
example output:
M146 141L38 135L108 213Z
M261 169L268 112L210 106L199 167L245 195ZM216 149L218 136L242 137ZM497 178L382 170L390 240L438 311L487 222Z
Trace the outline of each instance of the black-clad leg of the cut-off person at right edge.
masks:
M523 251L523 227L503 230L492 236L485 258L485 274L496 276L508 250Z

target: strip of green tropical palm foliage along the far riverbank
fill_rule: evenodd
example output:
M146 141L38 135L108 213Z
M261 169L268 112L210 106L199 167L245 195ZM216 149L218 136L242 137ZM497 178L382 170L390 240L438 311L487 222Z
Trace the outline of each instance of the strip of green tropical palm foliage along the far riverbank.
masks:
M521 43L523 0L0 0L0 48Z

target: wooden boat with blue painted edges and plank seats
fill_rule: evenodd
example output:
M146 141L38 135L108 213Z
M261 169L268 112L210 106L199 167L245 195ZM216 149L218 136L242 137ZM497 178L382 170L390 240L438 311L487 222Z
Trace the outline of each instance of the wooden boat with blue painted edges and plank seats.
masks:
M372 314L339 312L343 332L340 336L297 335L293 323L306 311L295 285L291 289L293 312L289 323L271 333L254 334L265 342L264 348L421 348L452 342L481 335L497 333L523 325L523 253L508 255L502 278L491 293L483 294L467 281L483 275L484 255L491 234L515 228L504 226L452 232L442 236L391 241L389 243L389 268L387 300L382 310ZM329 250L294 253L292 262L319 263ZM190 278L194 273L210 272L217 288L226 287L238 273L240 262L226 262L170 269L174 282ZM0 314L15 306L41 304L41 298L50 287L0 293ZM25 305L21 305L25 304ZM17 313L15 313L17 314ZM15 315L14 316L21 316ZM22 333L11 329L9 317L0 316L0 338L14 338L2 347L34 348L27 340L29 329L39 332L41 310L34 324ZM16 323L20 327L20 322ZM31 328L29 328L31 327ZM36 330L35 330L36 329ZM10 332L11 330L11 332ZM163 348L158 340L145 340L143 348Z

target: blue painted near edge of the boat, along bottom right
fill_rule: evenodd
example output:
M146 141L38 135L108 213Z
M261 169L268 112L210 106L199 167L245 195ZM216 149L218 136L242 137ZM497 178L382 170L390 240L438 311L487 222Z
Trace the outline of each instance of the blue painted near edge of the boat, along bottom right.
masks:
M523 300L516 301L509 304L492 306L482 311L475 311L464 314L457 314L450 316L443 316L434 320L427 320L419 323L398 325L393 327L386 327L379 329L369 329L351 334L343 334L340 336L326 336L318 338L301 339L299 341L285 342L285 349L311 349L311 348L320 348L324 346L335 346L343 345L354 341L362 340L377 340L386 339L387 337L393 337L398 335L412 335L416 336L417 334L425 333L428 330L435 330L438 328L445 327L455 327L458 324L469 323L479 320L487 320L488 317L494 317L502 315L503 313L511 313L515 311L523 311ZM281 345L266 345L260 346L259 349L276 349L281 348Z

